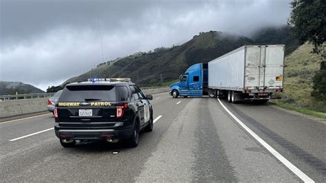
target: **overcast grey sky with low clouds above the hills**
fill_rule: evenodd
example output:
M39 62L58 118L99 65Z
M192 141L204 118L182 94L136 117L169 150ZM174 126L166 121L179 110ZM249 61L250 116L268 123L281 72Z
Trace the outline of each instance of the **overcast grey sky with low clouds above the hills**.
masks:
M43 90L102 63L100 30L110 61L210 30L250 36L290 15L290 0L0 1L0 80Z

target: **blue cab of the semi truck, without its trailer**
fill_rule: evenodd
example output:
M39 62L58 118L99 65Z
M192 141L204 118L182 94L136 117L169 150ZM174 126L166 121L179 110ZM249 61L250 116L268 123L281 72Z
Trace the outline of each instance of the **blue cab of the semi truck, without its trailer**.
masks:
M170 85L170 94L173 98L203 96L208 87L208 64L191 65L184 74L180 75L179 80L179 82Z

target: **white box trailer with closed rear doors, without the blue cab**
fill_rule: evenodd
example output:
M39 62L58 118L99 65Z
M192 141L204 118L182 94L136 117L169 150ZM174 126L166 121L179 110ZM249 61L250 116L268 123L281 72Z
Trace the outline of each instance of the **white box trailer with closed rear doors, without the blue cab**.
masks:
M210 96L240 100L272 98L283 92L285 45L243 45L208 63Z

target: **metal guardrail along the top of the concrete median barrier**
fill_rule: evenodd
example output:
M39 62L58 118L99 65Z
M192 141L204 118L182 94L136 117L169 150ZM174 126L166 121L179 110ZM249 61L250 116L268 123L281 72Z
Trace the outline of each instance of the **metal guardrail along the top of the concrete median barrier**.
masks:
M140 89L160 89L166 87L141 87ZM0 100L19 100L19 99L29 99L29 98L50 98L55 93L38 93L38 94L18 94L18 95L6 95L0 96Z

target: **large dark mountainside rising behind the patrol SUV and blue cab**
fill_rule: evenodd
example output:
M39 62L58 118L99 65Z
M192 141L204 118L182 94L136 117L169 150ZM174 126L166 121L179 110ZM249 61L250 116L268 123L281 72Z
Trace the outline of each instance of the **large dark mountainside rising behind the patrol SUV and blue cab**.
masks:
M95 69L71 78L65 83L86 80L89 77L129 77L140 86L160 85L175 80L195 63L207 63L227 52L252 41L243 36L222 32L200 33L190 41L171 48L157 48L154 52L139 52L115 62L101 64Z

